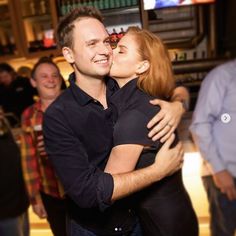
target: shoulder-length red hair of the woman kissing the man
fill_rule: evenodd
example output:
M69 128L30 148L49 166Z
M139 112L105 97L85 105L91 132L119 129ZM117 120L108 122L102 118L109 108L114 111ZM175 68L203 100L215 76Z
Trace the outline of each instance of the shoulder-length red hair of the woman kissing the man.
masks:
M139 75L138 87L151 96L170 99L175 80L167 48L155 34L139 27L129 27L126 34L134 36L141 60L147 60L150 67Z

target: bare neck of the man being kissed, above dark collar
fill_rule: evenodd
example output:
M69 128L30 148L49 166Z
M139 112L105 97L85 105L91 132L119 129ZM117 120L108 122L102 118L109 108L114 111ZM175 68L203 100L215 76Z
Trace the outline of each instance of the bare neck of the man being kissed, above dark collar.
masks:
M76 85L107 108L106 83L103 78L76 76Z

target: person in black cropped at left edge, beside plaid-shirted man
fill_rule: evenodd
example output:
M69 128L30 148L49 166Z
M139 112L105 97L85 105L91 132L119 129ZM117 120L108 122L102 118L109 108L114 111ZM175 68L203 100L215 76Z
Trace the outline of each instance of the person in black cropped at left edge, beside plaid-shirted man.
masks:
M28 236L29 206L20 150L0 109L0 235Z

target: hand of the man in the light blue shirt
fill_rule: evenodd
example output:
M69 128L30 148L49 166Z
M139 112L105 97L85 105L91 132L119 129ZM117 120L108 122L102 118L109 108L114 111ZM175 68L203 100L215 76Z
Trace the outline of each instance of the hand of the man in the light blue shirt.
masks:
M213 175L215 185L222 193L225 193L229 200L236 200L236 186L234 184L233 176L227 171L223 170Z

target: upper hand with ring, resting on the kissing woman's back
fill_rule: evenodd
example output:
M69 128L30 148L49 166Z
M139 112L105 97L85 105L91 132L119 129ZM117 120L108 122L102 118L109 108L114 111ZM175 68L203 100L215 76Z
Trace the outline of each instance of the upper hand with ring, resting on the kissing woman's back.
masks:
M166 102L155 99L150 102L159 105L161 110L147 125L151 129L148 137L153 141L160 139L161 142L165 142L177 128L185 110L179 101Z

